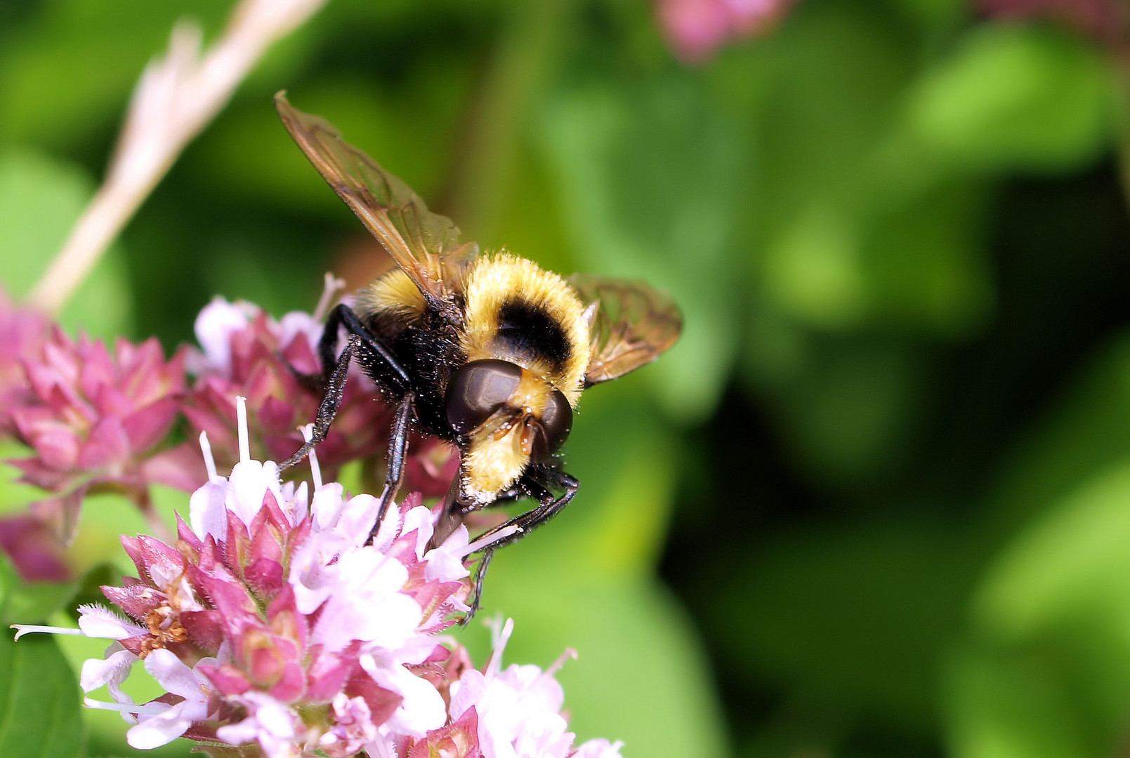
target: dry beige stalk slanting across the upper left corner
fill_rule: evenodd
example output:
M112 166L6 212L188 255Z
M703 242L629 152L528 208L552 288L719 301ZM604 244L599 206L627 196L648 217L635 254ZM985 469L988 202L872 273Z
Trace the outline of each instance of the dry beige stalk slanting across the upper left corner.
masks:
M168 52L146 67L102 188L28 302L56 314L173 162L227 104L267 49L325 0L243 0L224 35L201 53L200 28L181 21Z

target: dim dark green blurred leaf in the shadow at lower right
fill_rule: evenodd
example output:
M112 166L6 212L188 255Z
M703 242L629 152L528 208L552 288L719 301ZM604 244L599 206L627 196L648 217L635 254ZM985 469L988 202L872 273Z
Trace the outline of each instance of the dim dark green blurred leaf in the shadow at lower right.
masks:
M731 677L767 678L850 717L924 732L968 558L937 523L798 529L738 563L715 559L707 570L720 582L704 589L702 607Z

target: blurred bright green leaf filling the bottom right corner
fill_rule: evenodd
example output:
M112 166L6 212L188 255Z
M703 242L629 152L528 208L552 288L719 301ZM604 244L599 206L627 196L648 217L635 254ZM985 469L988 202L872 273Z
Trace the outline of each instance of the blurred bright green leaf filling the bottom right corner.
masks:
M1130 708L1130 463L1055 503L1011 541L953 664L959 756L1105 756Z

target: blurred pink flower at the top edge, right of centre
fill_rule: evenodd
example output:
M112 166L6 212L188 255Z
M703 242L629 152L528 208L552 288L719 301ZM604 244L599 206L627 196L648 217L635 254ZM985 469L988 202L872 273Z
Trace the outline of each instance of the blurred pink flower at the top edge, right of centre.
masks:
M660 24L686 63L710 60L733 40L764 33L793 0L658 0Z

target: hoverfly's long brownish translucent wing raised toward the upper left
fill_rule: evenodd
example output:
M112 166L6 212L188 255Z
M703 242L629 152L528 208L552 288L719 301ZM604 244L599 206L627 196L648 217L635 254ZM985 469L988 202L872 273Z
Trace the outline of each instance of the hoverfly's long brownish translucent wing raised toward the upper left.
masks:
M447 299L460 288L479 254L477 244L460 244L451 219L429 211L407 184L341 139L328 121L292 106L285 90L275 96L275 107L314 168L425 296Z

